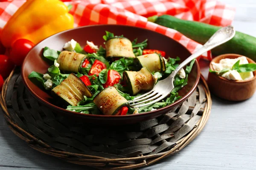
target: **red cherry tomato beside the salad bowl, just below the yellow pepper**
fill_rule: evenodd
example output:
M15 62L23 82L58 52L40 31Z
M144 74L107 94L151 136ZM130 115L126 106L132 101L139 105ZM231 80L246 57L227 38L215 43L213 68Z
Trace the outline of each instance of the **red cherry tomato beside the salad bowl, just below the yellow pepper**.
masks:
M29 50L34 47L35 44L26 39L16 40L12 44L12 51L10 54L10 59L15 65L21 65L24 58L28 54Z

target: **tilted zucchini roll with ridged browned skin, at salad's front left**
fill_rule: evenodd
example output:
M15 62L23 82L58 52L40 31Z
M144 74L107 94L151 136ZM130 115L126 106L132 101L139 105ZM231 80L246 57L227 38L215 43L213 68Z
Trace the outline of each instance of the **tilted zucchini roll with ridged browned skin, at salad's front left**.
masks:
M52 93L72 106L76 106L78 102L84 99L84 96L93 96L84 82L73 73L64 79L60 85L53 88Z

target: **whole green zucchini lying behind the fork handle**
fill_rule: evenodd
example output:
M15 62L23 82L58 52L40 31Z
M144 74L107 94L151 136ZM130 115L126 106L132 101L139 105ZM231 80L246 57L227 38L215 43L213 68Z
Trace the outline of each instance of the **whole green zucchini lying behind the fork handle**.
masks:
M148 21L175 29L201 44L207 42L221 28L196 21L181 20L171 15L149 17ZM230 41L212 49L212 54L215 56L227 53L241 54L256 61L256 38L236 31L235 37Z

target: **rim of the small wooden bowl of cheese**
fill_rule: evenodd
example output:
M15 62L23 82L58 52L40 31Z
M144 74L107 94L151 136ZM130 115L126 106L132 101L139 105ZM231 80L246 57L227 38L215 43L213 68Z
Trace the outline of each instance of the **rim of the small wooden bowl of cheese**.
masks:
M221 54L221 55L219 55L219 56L217 56L217 57L215 57L215 58L212 59L212 61L211 61L210 64L209 64L209 68L210 68L211 70L213 70L213 68L212 68L212 62L216 62L216 61L219 62L220 58L221 58L221 59L228 59L230 56L235 57L235 58L238 58L238 57L242 57L242 56L244 56L244 55L241 55L241 54L231 54L231 53L230 53L230 54ZM246 57L246 56L244 56L244 57ZM256 64L256 62L253 61L252 59L250 59L249 57L246 57L246 59L247 59L247 61L248 61L249 63L254 63L254 64ZM218 63L218 62L216 62L216 63ZM214 74L214 73L210 73L210 72L209 72L209 74ZM229 82L229 83L233 83L233 84L247 83L247 82L251 82L251 81L253 81L254 79L256 79L256 71L253 71L253 78L247 79L247 80L236 80L236 81L235 81L235 80L225 79L224 77L218 76L217 74L214 74L214 75L217 76L217 77L219 77L219 79L221 79L222 81Z

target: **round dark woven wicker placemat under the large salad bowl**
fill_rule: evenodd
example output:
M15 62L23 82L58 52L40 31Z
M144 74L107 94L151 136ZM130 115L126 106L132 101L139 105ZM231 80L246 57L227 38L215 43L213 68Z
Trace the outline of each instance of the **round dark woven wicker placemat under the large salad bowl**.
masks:
M203 77L175 111L134 125L95 127L55 114L29 94L19 69L1 94L11 130L30 147L74 164L104 170L144 167L180 151L201 132L212 105Z

